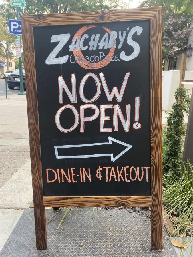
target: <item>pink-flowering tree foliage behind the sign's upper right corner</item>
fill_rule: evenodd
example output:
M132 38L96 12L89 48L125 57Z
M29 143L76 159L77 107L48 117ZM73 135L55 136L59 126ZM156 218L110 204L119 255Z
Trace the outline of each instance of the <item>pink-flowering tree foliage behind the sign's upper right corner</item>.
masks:
M184 0L182 0L183 2ZM160 0L145 0L140 7L160 5ZM162 6L162 58L178 59L179 54L188 46L188 37L192 35L190 23L192 15L186 11L177 13L170 5Z

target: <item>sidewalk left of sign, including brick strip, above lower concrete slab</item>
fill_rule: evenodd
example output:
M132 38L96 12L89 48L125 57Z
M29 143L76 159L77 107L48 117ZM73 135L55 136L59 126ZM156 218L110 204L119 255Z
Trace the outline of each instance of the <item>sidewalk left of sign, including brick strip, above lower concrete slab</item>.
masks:
M0 101L0 188L30 158L26 96Z

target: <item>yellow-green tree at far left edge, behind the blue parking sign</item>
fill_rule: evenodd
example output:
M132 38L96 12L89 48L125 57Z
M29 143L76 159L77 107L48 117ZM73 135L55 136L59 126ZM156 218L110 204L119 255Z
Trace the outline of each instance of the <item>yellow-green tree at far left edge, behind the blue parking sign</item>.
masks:
M2 55L7 59L7 69L9 70L9 58L13 58L13 45L15 37L9 34L8 27L0 16L0 49Z

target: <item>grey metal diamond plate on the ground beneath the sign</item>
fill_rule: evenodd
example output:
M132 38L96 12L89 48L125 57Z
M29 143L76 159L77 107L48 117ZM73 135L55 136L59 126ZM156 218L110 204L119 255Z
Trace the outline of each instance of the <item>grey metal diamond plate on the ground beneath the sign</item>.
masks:
M47 224L48 248L36 250L33 209L26 209L0 256L177 256L163 230L165 249L151 251L150 212L139 208L66 208ZM55 211L46 210L47 221ZM55 233L55 234L54 234Z

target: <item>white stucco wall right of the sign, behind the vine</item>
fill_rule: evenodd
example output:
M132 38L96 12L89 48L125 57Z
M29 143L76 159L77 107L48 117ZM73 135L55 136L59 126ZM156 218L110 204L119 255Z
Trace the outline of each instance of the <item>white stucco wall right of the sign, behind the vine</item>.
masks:
M193 71L185 72L185 79L193 80ZM172 110L172 104L175 101L174 93L177 87L179 87L180 81L180 71L172 70L172 71L162 71L162 109L166 111ZM189 84L185 84L189 90L191 95L192 86Z

